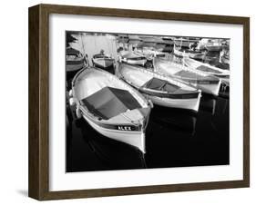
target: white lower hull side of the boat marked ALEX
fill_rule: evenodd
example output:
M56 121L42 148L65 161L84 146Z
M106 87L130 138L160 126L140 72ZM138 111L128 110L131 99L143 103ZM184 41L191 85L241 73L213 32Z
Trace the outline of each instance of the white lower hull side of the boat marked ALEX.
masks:
M89 125L91 125L100 134L119 142L128 143L129 145L132 145L138 148L139 151L146 153L146 146L145 146L146 137L145 137L144 131L130 132L130 131L119 131L119 130L112 130L112 129L110 130L97 125L97 123L95 122L92 122L90 119L87 118L86 115L83 115L83 117L89 123Z

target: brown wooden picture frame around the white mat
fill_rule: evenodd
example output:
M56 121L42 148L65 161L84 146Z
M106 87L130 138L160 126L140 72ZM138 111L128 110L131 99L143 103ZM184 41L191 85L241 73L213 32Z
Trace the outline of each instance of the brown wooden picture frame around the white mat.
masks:
M94 190L49 191L49 15L100 15L243 25L243 180L163 184ZM192 15L69 5L29 8L29 181L28 195L36 200L59 200L146 194L184 190L213 190L250 186L250 18Z

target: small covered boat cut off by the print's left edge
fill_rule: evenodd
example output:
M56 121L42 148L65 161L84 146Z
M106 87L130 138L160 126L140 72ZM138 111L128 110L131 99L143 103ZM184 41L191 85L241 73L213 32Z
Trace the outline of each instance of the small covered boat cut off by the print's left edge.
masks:
M85 65L84 55L74 48L66 49L66 72L77 72Z

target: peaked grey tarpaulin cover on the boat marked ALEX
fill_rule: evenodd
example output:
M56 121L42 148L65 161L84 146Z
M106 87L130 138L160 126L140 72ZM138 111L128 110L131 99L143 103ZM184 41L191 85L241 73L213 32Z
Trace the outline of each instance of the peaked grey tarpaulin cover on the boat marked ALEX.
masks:
M122 112L141 108L138 101L126 90L104 87L83 99L88 110L93 114L108 120Z

